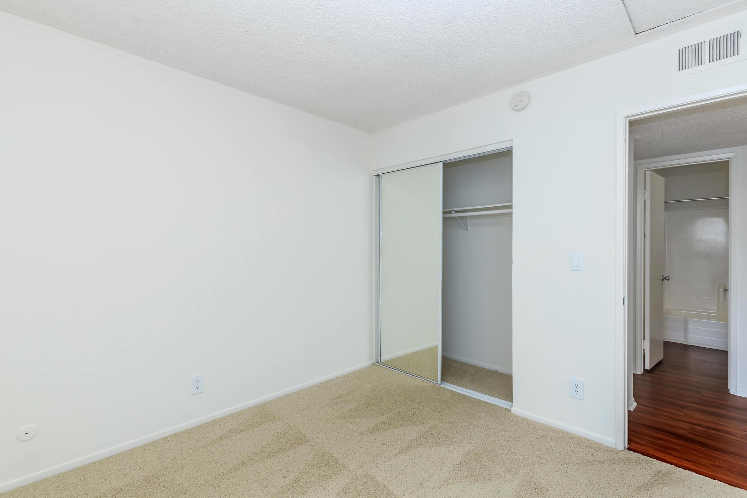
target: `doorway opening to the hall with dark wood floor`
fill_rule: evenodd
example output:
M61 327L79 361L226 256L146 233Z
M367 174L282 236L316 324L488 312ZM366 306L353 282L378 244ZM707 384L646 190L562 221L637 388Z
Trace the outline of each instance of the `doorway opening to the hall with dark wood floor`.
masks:
M734 302L747 99L633 120L628 150L627 448L747 489Z

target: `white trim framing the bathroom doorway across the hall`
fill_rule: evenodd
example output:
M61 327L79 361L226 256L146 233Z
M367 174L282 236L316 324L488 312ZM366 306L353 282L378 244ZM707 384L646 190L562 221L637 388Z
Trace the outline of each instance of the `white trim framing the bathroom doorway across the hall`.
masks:
M739 152L737 149L716 149L692 154L671 155L663 158L645 159L635 161L636 166L636 358L633 373L643 372L643 176L651 169L672 168L676 166L689 166L692 164L707 164L721 161L729 162L729 297L734 296L732 289L737 288L737 197L739 189L737 186L737 175L739 174ZM734 285L731 284L734 282ZM729 307L729 323L737 323L737 306ZM737 357L736 349L732 346L737 344L737 328L729 327L729 392L737 392ZM732 353L734 351L734 355Z

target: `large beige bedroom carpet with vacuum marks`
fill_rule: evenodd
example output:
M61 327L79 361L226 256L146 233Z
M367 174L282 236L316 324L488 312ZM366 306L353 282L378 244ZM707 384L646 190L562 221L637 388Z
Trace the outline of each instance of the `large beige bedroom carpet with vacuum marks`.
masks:
M84 497L747 497L377 365L11 491Z

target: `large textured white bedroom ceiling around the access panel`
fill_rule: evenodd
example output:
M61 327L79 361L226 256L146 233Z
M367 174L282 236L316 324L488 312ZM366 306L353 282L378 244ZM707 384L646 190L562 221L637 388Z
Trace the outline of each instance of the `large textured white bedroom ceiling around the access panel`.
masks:
M648 3L674 10L681 1ZM0 0L0 8L376 131L743 10L747 0L637 37L622 0Z

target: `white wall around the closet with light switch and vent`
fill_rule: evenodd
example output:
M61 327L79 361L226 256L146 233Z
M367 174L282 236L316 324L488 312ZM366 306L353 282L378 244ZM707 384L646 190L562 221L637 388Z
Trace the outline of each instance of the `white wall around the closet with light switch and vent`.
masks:
M372 169L513 140L515 413L614 443L616 113L743 84L746 62L670 79L669 49L746 25L736 14L374 135Z

